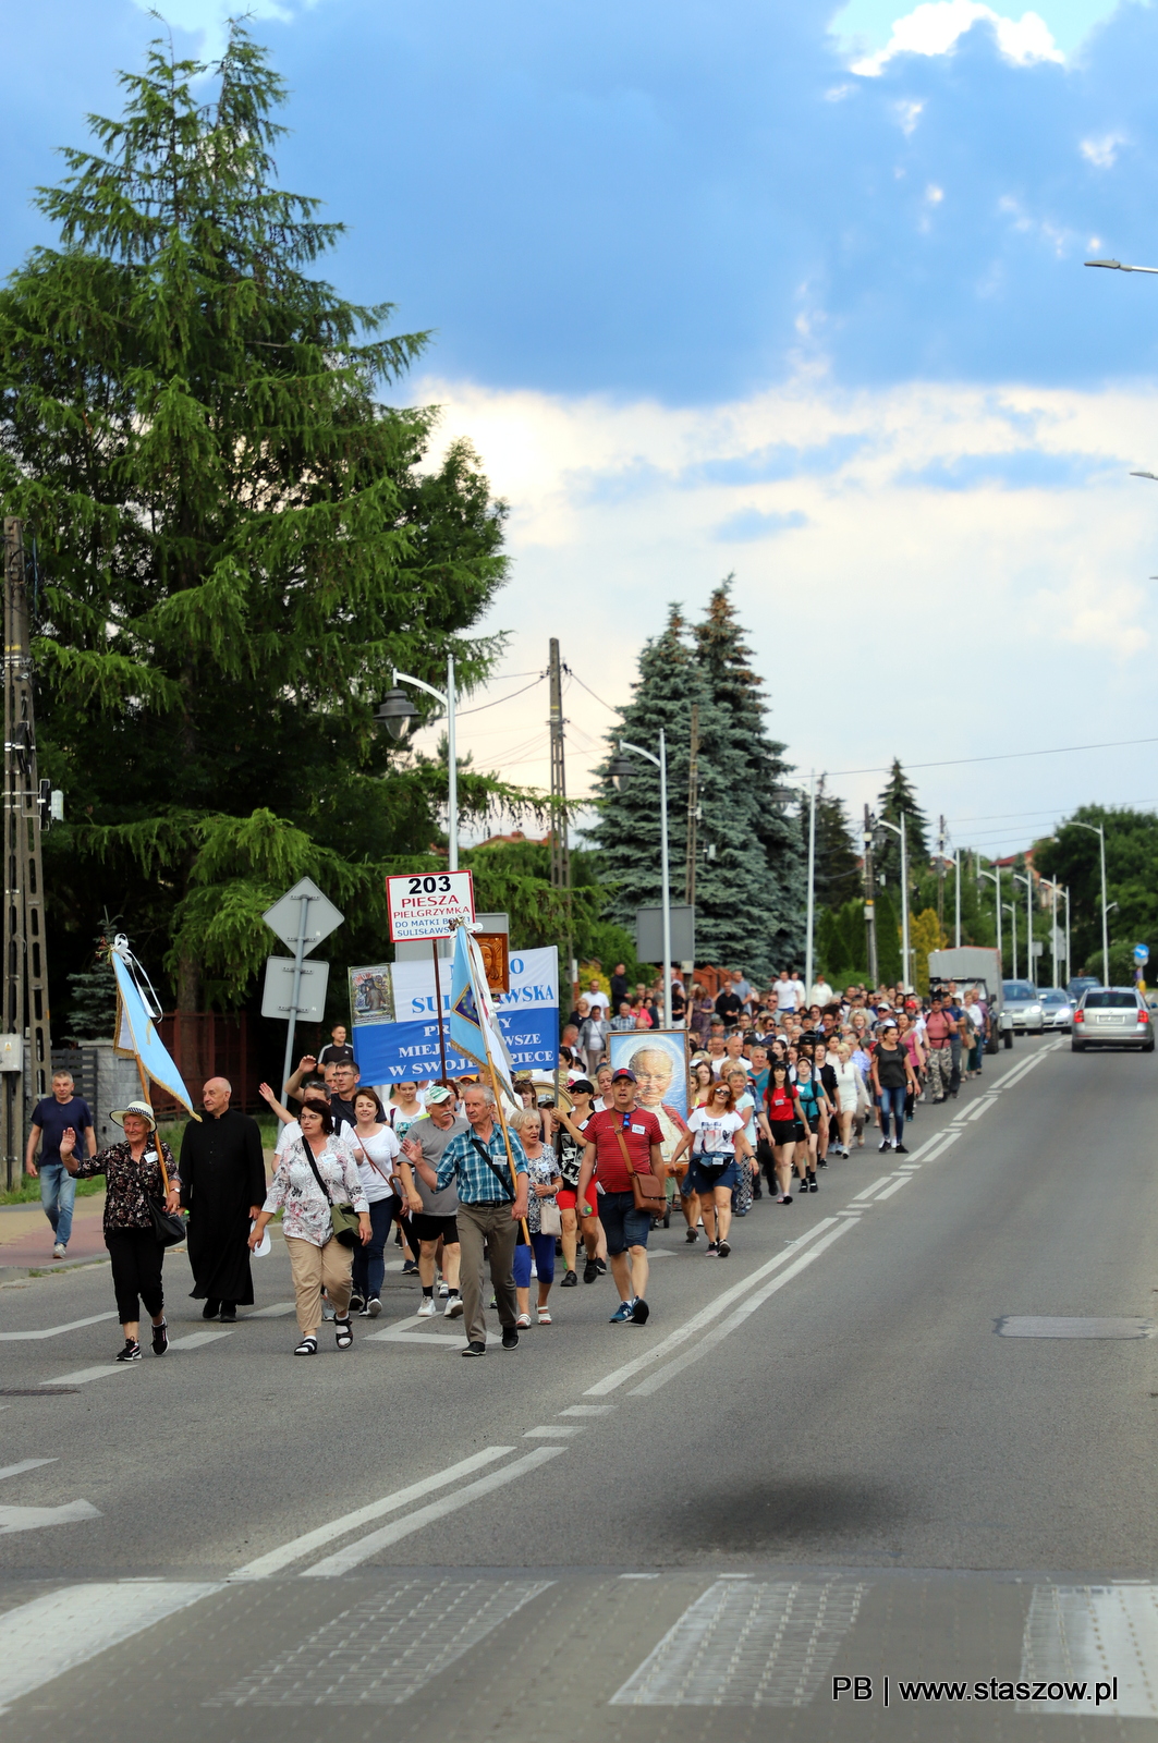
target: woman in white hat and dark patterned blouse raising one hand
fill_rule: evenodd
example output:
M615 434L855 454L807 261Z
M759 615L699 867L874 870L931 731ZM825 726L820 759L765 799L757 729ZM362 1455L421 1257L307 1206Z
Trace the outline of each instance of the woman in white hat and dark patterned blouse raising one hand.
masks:
M110 1119L124 1126L124 1143L112 1143L106 1150L77 1161L77 1133L70 1126L61 1138L61 1161L70 1175L82 1180L87 1175L105 1175L105 1246L113 1262L117 1318L124 1332L124 1349L117 1361L140 1361L141 1302L153 1321L153 1354L164 1356L169 1347L160 1286L164 1246L153 1232L148 1201L159 1204L164 1199L166 1210L176 1215L181 1208L181 1180L169 1145L153 1140L157 1121L148 1102L129 1102L120 1112L110 1114Z

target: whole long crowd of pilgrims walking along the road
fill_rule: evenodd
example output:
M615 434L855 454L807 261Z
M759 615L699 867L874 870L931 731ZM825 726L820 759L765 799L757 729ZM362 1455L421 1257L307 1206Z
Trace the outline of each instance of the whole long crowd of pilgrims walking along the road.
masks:
M898 987L835 994L821 976L807 988L809 1000L790 971L764 992L734 971L708 999L699 987L685 992L680 981L673 1027L687 1030L687 1096L673 1096L666 1086L649 1102L637 1074L612 1072L603 1056L614 992L609 999L591 983L576 1002L555 1084L516 1081L521 1105L509 1110L502 1138L494 1107L480 1100L494 1103L494 1096L474 1077L359 1084L344 1030L335 1030L317 1058L302 1060L284 1100L262 1086L279 1121L269 1183L256 1121L230 1107L232 1089L220 1077L204 1086L204 1117L185 1128L180 1164L159 1140L143 1100L113 1116L126 1140L99 1156L75 1156L75 1135L66 1133L61 1161L68 1171L105 1173L108 1182L105 1238L126 1335L117 1360L141 1358L141 1304L152 1318L153 1353L167 1349L160 1257L164 1222L174 1222L180 1210L190 1213L192 1295L202 1302L202 1318L225 1323L237 1319L237 1307L253 1304L251 1253L269 1250L267 1224L281 1215L300 1333L295 1354L317 1351L323 1318L335 1321L337 1347L349 1349L352 1319L382 1312L391 1239L403 1276L422 1292L419 1316L466 1314L464 1354L487 1347L480 1300L487 1248L495 1292L490 1306L499 1307L504 1347L518 1344L518 1332L553 1323L556 1260L560 1286L576 1288L581 1279L591 1285L605 1276L610 1258L621 1293L612 1318L645 1323L638 1278L645 1285L649 1227L682 1218L687 1245L703 1239L708 1258L727 1258L732 1220L746 1217L757 1199L790 1206L794 1197L818 1192L818 1175L830 1159L867 1143L903 1154L905 1122L917 1102L956 1096L963 1077L980 1075L989 1035L975 988L959 994L950 985L923 1000ZM649 992L654 988L637 988L635 1000L619 1000L621 1028L652 1027L659 1009ZM666 1199L642 1227L638 1206L635 1217L630 1203L617 1206L609 1246L603 1222L612 1224L612 1197L624 1194L607 1196L600 1218L603 1183L591 1170L596 1133L610 1142L610 1126L595 1116L610 1110L616 1122L623 1117L626 1133L640 1135L631 1138L640 1171L651 1154ZM602 1149L603 1156L614 1161L614 1150ZM518 1159L509 1187L504 1157ZM523 1231L518 1245L511 1218ZM507 1236L509 1260L495 1267Z

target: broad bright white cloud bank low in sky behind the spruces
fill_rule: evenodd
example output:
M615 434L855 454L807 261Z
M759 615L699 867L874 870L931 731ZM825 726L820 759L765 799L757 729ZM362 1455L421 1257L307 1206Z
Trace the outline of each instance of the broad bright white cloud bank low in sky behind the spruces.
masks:
M1158 458L1146 383L842 392L814 370L694 408L433 378L420 397L445 408L443 439L471 437L511 504L513 577L488 627L513 629L513 675L544 666L560 636L577 676L623 702L668 603L694 617L736 568L771 730L806 769L1067 744L1078 694L1078 741L1142 736L1132 699L1158 636L1146 580L1158 504L1127 474ZM800 657L807 647L818 659ZM577 683L567 716L569 791L582 795L614 716ZM462 748L546 786L544 720L532 692L466 716ZM1015 812L1027 791L1025 809L1053 795L1158 802L1144 751L1134 756L1106 753L1104 781L1090 756L917 779L933 809L961 812ZM858 805L879 784L835 790Z

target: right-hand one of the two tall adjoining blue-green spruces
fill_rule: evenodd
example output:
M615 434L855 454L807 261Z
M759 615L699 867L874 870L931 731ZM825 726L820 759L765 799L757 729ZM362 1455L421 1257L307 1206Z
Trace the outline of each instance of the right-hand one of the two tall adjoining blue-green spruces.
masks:
M705 743L717 769L727 770L731 809L729 858L722 861L717 849L699 924L705 939L736 939L729 960L766 974L802 950L806 859L795 821L776 798L790 765L783 760L785 744L769 737L764 725L764 682L752 666L731 587L727 575L694 627L696 664L720 716L717 737Z

